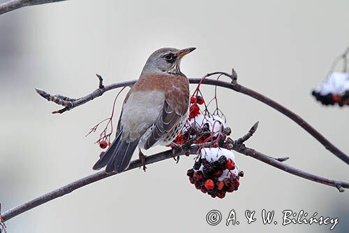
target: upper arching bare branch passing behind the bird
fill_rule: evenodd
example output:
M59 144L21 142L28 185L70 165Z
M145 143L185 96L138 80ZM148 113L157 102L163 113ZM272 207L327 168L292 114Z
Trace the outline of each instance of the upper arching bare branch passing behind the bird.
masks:
M229 77L232 82L223 82L220 80L211 80L207 79L209 76L214 75L223 75ZM64 108L54 111L52 113L64 113L66 111L69 111L72 108L75 108L77 106L80 106L82 104L87 103L88 101L95 99L96 97L100 97L104 92L107 92L108 90L115 89L117 87L125 87L125 86L131 86L133 85L136 80L131 80L124 83L114 83L112 85L103 85L103 78L99 75L97 75L99 79L99 85L98 89L94 90L91 94L88 94L85 97L81 97L79 99L72 99L69 97L64 97L61 94L49 94L45 92L44 90L40 90L36 88L36 92L40 94L41 97L47 99L48 101L54 101L56 104L59 104L61 106L64 106ZM207 73L202 78L189 78L190 83L200 83L200 84L207 84L207 85L215 85L219 87L225 87L229 88L231 90L235 90L236 92L240 92L243 94L248 95L249 97L252 97L254 99L257 99L261 101L264 104L267 104L268 106L271 106L272 108L276 109L276 111L279 111L280 113L283 113L283 115L286 115L288 118L296 122L300 127L302 127L306 132L311 134L316 140L318 140L327 150L332 152L336 157L339 157L339 159L343 160L343 162L346 162L346 164L349 164L349 156L343 153L339 148L336 148L334 144L332 144L329 140L325 138L320 132L318 132L315 128L313 128L311 125L309 125L308 122L306 122L303 118L301 118L299 115L293 113L288 108L285 108L285 106L282 106L281 104L277 103L276 101L269 99L265 95L262 95L258 92L255 92L254 90L248 89L247 87L244 87L243 85L240 85L237 83L237 73L235 73L234 70L232 70L232 74L225 73L225 72L214 72L214 73Z

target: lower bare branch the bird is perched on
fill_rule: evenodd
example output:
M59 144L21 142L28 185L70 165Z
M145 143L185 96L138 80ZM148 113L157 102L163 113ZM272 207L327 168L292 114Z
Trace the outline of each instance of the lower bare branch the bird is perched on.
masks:
M253 133L255 132L257 127L258 127L258 123L253 125L253 127L250 129L250 131L240 139L237 139L235 141L231 140L231 139L227 139L228 143L225 143L225 148L236 150L239 153L242 153L244 155L248 155L249 157L253 157L256 160L260 160L262 162L265 162L269 165L272 165L273 167L281 169L282 171L288 172L288 173L293 174L295 176L306 178L310 181L315 181L318 183L322 183L324 185L336 187L340 192L343 192L344 188L349 188L348 182L334 181L334 180L331 180L329 178L315 176L315 175L310 174L306 171L302 171L300 169L296 169L296 168L291 167L287 164L284 164L283 162L280 162L278 159L275 159L275 158L270 157L268 155L264 155L262 153L259 153L256 150L253 150L251 148L246 148L246 146L244 146L244 141L246 141L248 138L250 138L253 135ZM201 147L201 145L192 145L190 148L188 148L188 150L190 151L190 154L195 155L198 153L198 150L200 147ZM173 151L176 151L176 152L173 153ZM157 153L155 155L150 155L150 156L145 157L144 163L145 164L152 164L155 162L160 162L162 160L167 160L169 158L178 157L178 156L185 155L185 154L186 154L186 151L183 150L183 147L181 150L166 150L166 151L163 151L161 153ZM126 169L125 171L129 171L131 169L141 167L142 165L143 165L142 160L140 160L140 159L133 160L133 162L131 162L128 169ZM95 174L91 174L91 175L86 176L84 178L81 178L77 181L73 181L72 183L68 183L68 185L65 185L61 188L58 188L57 190L53 190L52 192L47 192L45 195L42 195L40 197L37 197L36 199L32 199L29 202L21 204L20 206L17 206L13 209L10 209L10 210L6 211L5 213L2 213L1 216L2 216L4 221L10 220L11 218L18 216L21 213L24 213L25 211L29 211L30 209L34 209L35 207L40 206L42 204L45 204L46 202L50 202L53 199L67 195L68 193L73 192L74 190L77 190L78 188L82 188L85 185L95 183L96 181L100 181L104 178L107 178L109 176L114 176L114 175L116 175L116 174L115 173L107 174L107 173L105 173L105 171L98 171Z

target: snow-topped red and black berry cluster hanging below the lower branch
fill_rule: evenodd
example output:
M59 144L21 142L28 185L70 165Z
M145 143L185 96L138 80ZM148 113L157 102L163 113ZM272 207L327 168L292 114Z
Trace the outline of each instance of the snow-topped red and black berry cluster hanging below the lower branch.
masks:
M235 155L223 148L202 148L200 157L194 163L193 169L187 171L189 181L195 188L211 197L224 198L227 192L239 188L240 176L235 162Z

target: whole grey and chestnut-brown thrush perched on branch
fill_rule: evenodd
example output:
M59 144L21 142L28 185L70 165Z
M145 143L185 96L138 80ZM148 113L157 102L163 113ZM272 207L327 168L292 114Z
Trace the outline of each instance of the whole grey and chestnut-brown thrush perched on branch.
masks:
M161 48L145 63L140 78L126 94L114 141L94 164L106 173L128 168L138 147L142 158L157 145L170 144L188 119L190 93L188 78L181 73L184 55L195 48Z

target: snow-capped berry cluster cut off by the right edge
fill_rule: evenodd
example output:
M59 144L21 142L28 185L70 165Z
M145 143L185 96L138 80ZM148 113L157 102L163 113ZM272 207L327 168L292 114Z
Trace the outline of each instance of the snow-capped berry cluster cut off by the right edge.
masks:
M312 92L324 105L349 105L349 73L332 72L327 80Z

